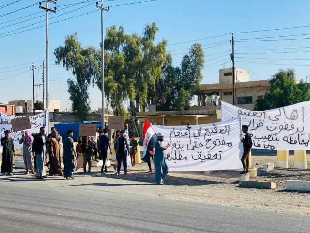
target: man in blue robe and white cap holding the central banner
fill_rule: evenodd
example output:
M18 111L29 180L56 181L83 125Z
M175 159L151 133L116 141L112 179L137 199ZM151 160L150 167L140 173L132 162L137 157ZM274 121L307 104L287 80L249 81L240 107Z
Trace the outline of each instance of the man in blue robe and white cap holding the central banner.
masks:
M163 145L164 135L162 133L157 133L157 141L155 142L155 154L154 154L154 166L156 173L156 184L163 185L163 181L168 174L168 166L166 164L166 152L171 142L166 146Z

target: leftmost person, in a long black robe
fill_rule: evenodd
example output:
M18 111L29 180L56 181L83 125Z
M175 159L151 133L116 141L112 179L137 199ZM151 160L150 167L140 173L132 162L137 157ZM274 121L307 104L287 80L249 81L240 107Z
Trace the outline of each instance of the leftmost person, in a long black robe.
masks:
M2 152L2 175L7 173L8 176L12 176L13 171L13 155L15 156L15 149L13 139L10 137L10 131L4 131L5 136L1 138L1 145L3 147Z

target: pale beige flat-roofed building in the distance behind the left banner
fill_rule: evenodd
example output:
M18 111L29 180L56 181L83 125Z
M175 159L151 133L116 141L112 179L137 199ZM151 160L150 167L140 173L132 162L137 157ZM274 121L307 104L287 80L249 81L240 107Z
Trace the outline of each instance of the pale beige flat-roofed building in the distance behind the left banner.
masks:
M16 113L33 113L33 100L12 100L9 103L14 104ZM42 112L42 102L36 104L41 104L41 109L36 108L35 112ZM50 112L60 112L60 106L60 100L49 100L48 109Z

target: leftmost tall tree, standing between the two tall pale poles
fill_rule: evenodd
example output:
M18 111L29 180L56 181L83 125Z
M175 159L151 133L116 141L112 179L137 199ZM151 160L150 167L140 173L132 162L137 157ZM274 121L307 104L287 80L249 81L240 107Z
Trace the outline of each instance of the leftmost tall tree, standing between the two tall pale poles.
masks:
M55 49L56 63L62 62L63 67L75 77L68 79L68 92L72 101L72 111L81 120L85 120L90 112L88 87L99 75L100 53L94 47L83 48L78 42L78 33L67 36L64 46Z

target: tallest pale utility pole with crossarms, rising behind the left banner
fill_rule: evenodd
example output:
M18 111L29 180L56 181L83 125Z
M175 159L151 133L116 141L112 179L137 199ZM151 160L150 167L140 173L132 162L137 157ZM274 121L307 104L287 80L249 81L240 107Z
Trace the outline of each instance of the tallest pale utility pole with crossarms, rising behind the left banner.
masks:
M57 0L45 0L45 7L42 6L42 2L39 2L39 8L46 11L46 108L48 108L49 103L49 93L48 93L48 66L49 66L49 58L48 58L48 12L56 13L56 7L53 9L48 8L48 2L53 4L57 4ZM49 123L49 122L48 122Z

